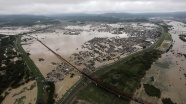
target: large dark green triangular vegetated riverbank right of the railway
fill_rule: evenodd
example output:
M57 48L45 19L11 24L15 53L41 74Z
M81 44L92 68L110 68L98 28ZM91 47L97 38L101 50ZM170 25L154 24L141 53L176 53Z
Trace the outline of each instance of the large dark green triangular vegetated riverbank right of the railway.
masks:
M151 67L151 64L161 56L158 50L145 52L141 56L133 57L127 62L110 67L111 70L102 75L99 80L116 87L121 92L133 95L136 86L139 87L141 78Z

